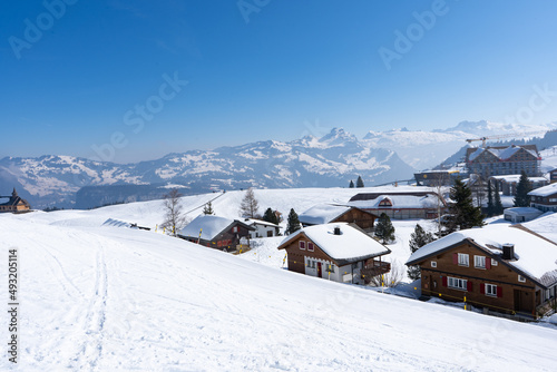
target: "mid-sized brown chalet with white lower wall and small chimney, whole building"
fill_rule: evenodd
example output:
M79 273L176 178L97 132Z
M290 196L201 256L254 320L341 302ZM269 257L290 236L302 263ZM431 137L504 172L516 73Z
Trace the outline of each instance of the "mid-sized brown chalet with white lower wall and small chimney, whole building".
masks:
M333 223L304 227L278 246L289 257L289 271L335 282L363 284L385 274L382 256L391 251L355 225Z

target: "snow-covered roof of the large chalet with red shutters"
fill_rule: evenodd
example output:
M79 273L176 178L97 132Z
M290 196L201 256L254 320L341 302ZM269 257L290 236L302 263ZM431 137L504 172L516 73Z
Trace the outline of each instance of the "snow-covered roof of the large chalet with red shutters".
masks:
M407 265L416 264L467 238L494 255L502 253L504 244L514 244L515 257L518 260L505 261L508 265L543 285L557 283L557 245L509 225L488 225L452 233L416 251Z

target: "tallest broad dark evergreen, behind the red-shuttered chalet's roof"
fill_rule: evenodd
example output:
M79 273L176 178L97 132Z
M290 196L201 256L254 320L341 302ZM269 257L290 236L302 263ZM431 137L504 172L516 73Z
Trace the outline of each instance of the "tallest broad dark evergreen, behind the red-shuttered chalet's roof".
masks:
M473 206L470 188L458 178L455 179L455 185L451 187L450 199L452 200L449 207L450 216L443 222L444 231L441 232L441 235L485 225L481 207Z

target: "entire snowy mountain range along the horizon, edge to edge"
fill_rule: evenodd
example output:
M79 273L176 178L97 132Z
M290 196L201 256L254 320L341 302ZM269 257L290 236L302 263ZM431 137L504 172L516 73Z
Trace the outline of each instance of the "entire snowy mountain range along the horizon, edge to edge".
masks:
M346 186L361 175L365 185L377 185L409 179L414 170L440 164L462 147L467 138L492 134L517 134L521 138L524 133L555 128L557 124L462 121L443 130L370 131L362 139L333 128L321 138L305 136L287 143L266 140L189 150L126 165L72 156L6 157L0 160L0 195L8 195L17 187L35 208L75 207L76 194L81 189L77 207L84 208L157 198L167 192L164 185L168 184L178 185L184 194L196 194L250 186ZM107 187L113 185L120 187ZM150 186L138 190L124 189L121 185ZM98 186L105 187L96 189Z

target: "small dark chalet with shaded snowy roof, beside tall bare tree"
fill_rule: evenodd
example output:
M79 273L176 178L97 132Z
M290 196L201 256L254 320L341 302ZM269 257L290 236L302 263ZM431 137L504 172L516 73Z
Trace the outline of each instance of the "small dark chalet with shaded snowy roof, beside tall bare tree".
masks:
M237 219L201 215L184 227L178 236L211 248L232 252L240 249L244 242L248 245L250 232L253 231L254 227Z

